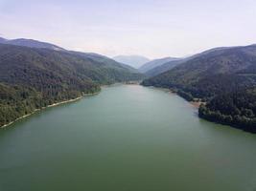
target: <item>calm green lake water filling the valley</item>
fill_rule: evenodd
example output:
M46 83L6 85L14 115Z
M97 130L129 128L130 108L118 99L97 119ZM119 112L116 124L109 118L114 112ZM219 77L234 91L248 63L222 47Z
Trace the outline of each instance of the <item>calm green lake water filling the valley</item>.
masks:
M1 191L252 191L256 136L137 85L47 109L0 130Z

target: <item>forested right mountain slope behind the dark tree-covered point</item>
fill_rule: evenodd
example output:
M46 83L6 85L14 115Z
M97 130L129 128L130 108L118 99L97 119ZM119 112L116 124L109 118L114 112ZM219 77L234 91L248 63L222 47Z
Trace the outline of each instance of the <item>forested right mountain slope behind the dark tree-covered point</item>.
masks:
M143 84L184 89L192 96L210 98L219 94L218 92L227 91L224 87L220 89L221 85L226 85L224 82L253 77L254 67L256 68L255 45L215 49L193 56L172 70L144 80Z

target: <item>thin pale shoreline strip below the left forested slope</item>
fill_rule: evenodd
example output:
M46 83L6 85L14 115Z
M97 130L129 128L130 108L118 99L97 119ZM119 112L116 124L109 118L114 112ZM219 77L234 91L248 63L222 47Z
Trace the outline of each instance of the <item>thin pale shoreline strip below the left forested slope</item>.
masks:
M58 102L58 103L53 103L53 104L51 104L51 105L47 105L46 107L42 107L41 109L35 109L32 113L27 114L27 115L24 115L24 116L22 116L22 117L18 117L18 118L16 118L16 119L14 119L12 122L1 126L0 129L5 129L5 128L7 128L8 126L12 125L12 123L14 123L14 122L16 122L16 121L18 121L18 120L20 120L20 119L22 119L22 118L30 117L30 116L34 115L36 112L40 112L40 111L43 111L43 110L45 110L45 109L47 109L47 108L56 107L56 106L58 106L58 105L62 105L62 104L65 104L65 103L75 102L75 101L78 101L78 100L80 100L82 97L85 97L85 96L95 96L95 95L98 95L100 92L101 92L101 91L96 92L96 93L91 93L91 94L85 94L85 95L83 95L83 96L78 96L77 98L72 98L72 99L69 99L69 100L64 100L64 101L60 101L60 102Z

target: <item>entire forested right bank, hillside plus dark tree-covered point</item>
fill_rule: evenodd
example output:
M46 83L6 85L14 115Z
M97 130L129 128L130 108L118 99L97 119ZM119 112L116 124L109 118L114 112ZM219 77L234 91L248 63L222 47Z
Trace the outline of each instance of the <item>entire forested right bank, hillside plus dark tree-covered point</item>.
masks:
M205 102L199 117L255 132L255 45L200 53L142 85L169 88L189 101Z

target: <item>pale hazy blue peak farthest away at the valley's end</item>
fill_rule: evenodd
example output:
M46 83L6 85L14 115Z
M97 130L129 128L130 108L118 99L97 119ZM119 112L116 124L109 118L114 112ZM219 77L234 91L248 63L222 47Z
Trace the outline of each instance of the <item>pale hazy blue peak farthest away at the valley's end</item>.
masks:
M138 69L143 64L150 61L149 58L141 55L117 55L113 57L113 59L117 62L127 64L135 69Z

